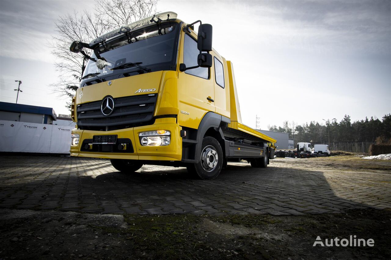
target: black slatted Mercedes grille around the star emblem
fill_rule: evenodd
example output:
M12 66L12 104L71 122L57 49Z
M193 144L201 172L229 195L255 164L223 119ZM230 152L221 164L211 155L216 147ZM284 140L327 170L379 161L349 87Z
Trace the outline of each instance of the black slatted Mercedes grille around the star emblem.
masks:
M77 126L83 130L109 131L146 125L153 120L156 94L127 96L114 99L114 110L104 116L100 107L102 101L77 106Z

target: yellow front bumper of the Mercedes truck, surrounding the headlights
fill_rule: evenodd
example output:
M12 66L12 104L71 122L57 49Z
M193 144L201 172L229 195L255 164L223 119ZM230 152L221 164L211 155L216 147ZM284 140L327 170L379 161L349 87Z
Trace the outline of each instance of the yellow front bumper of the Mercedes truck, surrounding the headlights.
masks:
M169 130L171 142L167 146L142 146L138 134L145 131ZM175 118L156 119L153 125L138 126L113 131L89 131L72 130L72 134L79 134L80 140L77 146L71 146L71 156L108 158L108 159L131 159L131 160L181 160L182 159L182 138L180 137L181 127L176 123ZM118 139L130 139L133 152L90 152L81 151L81 145L86 139L93 139L94 135L117 135Z

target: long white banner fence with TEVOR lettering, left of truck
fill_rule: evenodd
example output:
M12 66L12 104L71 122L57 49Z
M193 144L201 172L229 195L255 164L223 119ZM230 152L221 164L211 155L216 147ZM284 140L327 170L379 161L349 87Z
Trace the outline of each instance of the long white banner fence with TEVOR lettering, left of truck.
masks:
M69 153L73 128L0 120L0 151Z

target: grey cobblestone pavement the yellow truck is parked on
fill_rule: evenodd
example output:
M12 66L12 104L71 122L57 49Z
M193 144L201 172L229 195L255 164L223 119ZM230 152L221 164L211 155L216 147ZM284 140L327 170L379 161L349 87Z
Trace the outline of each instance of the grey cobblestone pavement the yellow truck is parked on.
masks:
M2 156L0 207L102 214L272 215L391 208L391 162L389 169L352 170L301 167L287 160L277 158L266 169L229 163L217 179L204 181L190 178L181 167L143 166L137 173L125 174L103 159Z

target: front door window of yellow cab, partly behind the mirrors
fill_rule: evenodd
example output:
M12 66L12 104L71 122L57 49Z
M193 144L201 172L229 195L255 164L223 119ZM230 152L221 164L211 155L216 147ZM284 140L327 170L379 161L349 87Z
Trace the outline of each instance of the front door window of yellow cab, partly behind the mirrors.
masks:
M197 58L199 54L199 50L197 48L197 41L195 41L191 36L185 34L185 44L183 50L183 63L185 63L186 67L197 66ZM195 68L188 69L185 71L186 74L194 75L200 78L209 78L209 68Z

